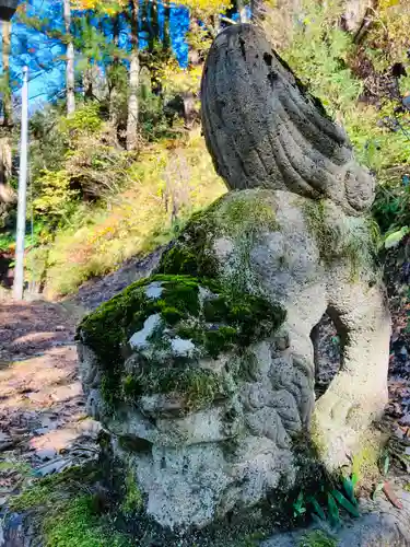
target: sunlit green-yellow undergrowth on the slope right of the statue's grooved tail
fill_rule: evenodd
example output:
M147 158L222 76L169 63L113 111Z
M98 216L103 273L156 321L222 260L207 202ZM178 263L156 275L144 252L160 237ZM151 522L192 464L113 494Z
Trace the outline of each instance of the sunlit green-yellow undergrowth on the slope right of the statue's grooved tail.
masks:
M395 10L399 12L396 15ZM407 65L405 49L397 47L397 44L402 46L407 36L409 14L407 10L405 16L405 2L380 2L364 43L356 46L353 35L340 27L340 2L320 5L303 0L301 12L294 13L296 23L288 28L289 39L279 44L284 46L282 56L311 93L343 124L358 160L374 173L378 188L373 211L385 238L410 226L410 112L403 108L400 96L388 95L383 90L379 96L367 101L366 96L372 95L367 81L391 79L395 62ZM271 18L276 13L272 10ZM269 9L267 22L272 22ZM265 28L276 42L278 31L267 24ZM366 75L371 72L366 81L360 78L361 62ZM401 78L397 83L405 96L409 92L409 78Z

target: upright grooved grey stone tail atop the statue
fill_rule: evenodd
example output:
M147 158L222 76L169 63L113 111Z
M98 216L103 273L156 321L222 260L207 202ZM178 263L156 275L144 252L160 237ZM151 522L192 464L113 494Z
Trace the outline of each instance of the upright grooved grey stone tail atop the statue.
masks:
M327 197L354 216L372 205L374 181L356 163L344 130L258 28L234 25L222 32L203 74L207 146L231 189Z

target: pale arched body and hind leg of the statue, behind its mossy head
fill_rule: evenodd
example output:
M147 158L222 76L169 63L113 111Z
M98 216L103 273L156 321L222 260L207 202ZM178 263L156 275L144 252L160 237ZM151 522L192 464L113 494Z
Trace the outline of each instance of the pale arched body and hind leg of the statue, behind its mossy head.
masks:
M333 468L387 401L390 319L368 222L330 200L233 193L195 219L162 261L163 271L199 276L214 265L226 286L239 282L286 310L279 342L284 349L260 361L272 361L269 374L278 389L298 394L304 427L314 407L311 333L326 311L331 315L341 337L341 370L316 404L313 430L320 432L317 444L326 446L323 457ZM198 253L197 240L206 254Z

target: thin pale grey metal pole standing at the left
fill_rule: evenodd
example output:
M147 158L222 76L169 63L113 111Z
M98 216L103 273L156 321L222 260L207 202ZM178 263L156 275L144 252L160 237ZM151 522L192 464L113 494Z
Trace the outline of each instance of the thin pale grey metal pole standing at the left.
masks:
M13 296L23 300L24 287L24 238L25 238L25 214L27 201L27 146L28 146L28 68L23 69L22 89L22 127L20 140L20 174L19 174L19 205L17 205L17 231L15 245L15 270Z

